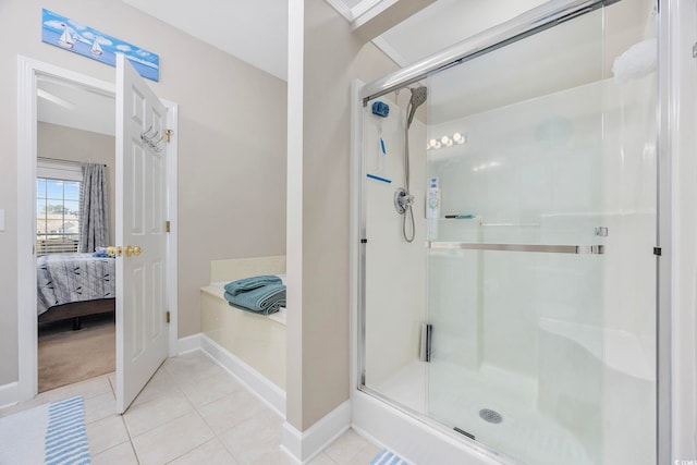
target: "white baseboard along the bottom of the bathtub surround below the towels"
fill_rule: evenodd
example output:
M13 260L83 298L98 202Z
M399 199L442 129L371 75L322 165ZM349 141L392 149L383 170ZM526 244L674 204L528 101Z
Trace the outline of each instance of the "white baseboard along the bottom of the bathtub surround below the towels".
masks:
M200 334L199 340L201 351L232 372L253 394L285 418L285 391L206 334Z

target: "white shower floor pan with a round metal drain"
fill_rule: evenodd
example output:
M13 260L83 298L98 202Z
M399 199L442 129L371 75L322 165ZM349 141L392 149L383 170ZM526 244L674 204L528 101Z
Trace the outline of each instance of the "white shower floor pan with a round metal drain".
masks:
M591 458L566 428L537 409L537 392L529 379L486 367L480 371L482 375L477 376L454 364L439 364L433 368L430 364L414 362L376 390L448 428L473 435L481 444L522 463L600 463ZM429 369L432 376L435 370L439 375L437 380L427 383ZM493 414L482 414L482 411ZM491 421L497 414L501 420Z

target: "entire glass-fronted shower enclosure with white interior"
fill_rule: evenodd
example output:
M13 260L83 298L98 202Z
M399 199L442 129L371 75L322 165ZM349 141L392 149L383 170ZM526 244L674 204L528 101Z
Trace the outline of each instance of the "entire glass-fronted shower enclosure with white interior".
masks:
M656 463L657 11L606 3L364 100L359 389L516 463Z

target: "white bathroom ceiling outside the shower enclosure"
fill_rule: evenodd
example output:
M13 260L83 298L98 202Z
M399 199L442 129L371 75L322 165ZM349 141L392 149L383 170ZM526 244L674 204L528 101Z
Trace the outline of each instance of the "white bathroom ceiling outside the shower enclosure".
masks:
M288 78L288 0L197 0L195 4L122 1L281 79ZM327 0L350 22L365 21L395 1ZM375 44L404 66L545 1L438 0L376 38Z

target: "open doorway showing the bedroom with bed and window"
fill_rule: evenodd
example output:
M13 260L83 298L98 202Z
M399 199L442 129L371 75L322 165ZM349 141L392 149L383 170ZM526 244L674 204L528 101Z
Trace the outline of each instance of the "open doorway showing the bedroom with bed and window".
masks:
M38 392L115 370L115 101L37 76Z

